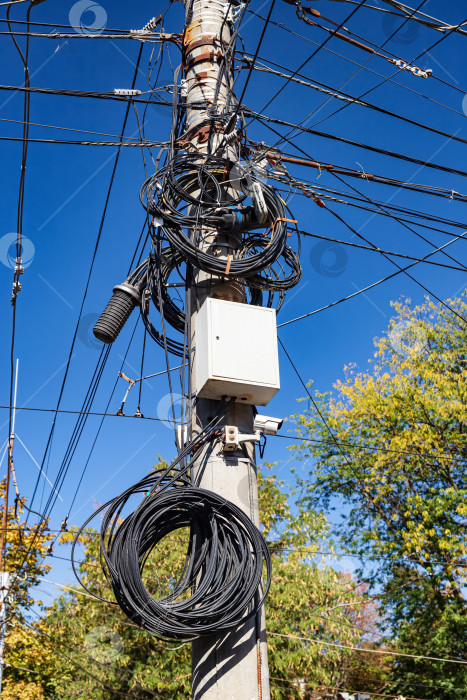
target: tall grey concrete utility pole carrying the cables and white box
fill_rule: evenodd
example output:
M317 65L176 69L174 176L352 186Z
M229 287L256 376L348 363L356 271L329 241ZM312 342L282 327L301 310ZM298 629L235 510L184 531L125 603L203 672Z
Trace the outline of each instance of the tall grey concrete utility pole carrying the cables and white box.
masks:
M185 87L187 102L212 103L217 89L217 110L222 110L229 95L231 75L218 78L224 48L231 33L228 13L235 5L230 0L185 0L186 26L184 34ZM204 110L187 110L185 137L198 152L207 152L212 121L206 121ZM214 134L214 150L223 142L222 133ZM211 149L212 150L212 149ZM228 147L224 157L235 158ZM221 257L238 246L235 238L216 238ZM206 244L209 247L209 243ZM196 353L195 320L207 297L245 302L244 285L223 283L220 279L195 271L196 293L191 293L192 347ZM241 329L238 329L241 333ZM245 342L247 342L245 338ZM193 397L195 386L195 357L190 358ZM210 422L219 408L219 401L199 398L193 414L194 433ZM253 407L234 403L227 412L225 424L237 426L243 433L253 430ZM247 454L226 455L219 443L206 447L195 465L196 484L220 494L249 515L259 527L258 489L255 451L251 443ZM201 637L192 644L193 695L195 700L269 700L269 670L267 661L264 608L245 621L237 630Z

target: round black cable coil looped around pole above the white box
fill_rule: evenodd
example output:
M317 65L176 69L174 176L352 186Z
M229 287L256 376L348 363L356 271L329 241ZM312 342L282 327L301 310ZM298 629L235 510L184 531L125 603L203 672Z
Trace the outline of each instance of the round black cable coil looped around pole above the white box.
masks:
M219 210L231 207L238 213L238 205L245 201L255 184L261 190L267 212L266 221L253 227L270 230L270 234L262 237L257 234L261 245L257 242L256 252L248 255L246 250L244 257L235 255L227 267L225 259L203 250L200 236L207 234L203 229L219 228ZM232 188L239 192L238 197L232 196ZM242 178L241 167L228 159L179 154L144 183L140 199L148 212L161 220L163 234L183 259L209 274L248 279L271 265L284 251L287 238L284 202L254 171Z

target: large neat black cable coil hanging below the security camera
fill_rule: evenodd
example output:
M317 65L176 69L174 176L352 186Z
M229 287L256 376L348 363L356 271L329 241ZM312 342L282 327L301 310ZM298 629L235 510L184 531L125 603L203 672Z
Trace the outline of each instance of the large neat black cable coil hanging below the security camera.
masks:
M213 422L197 436L196 447L186 446L169 468L144 477L102 506L73 543L72 561L82 530L107 509L101 561L116 604L135 624L164 640L188 641L235 628L257 613L269 591L271 557L258 528L236 505L193 486L187 477L203 444L220 434ZM192 460L176 468L193 449ZM143 500L122 520L122 510L135 494L144 495ZM190 537L181 574L172 592L156 600L143 583L145 564L164 537L184 527L190 528ZM80 581L74 562L73 569Z

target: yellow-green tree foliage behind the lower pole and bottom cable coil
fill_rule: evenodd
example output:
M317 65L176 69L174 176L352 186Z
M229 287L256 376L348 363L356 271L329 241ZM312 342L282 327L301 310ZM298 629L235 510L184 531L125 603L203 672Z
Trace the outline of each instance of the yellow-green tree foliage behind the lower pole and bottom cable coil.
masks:
M362 608L348 603L362 602L365 594L350 576L323 563L320 551L329 547L324 544L325 518L310 509L292 509L281 483L267 468L259 475L259 485L263 533L273 556L267 601L272 697L300 698L303 688L310 692L322 688L326 697L326 688L345 683L352 671L352 653L330 644L359 644L364 635ZM62 536L65 545L72 539L72 533ZM111 600L100 569L97 532L86 531L81 542L84 583ZM165 538L152 553L144 580L153 595L168 593L185 551L185 533L180 532ZM77 584L70 587L78 589ZM117 606L89 598L85 591L57 599L30 638L33 646L53 657L50 672L49 666L44 670L35 664L26 649L24 660L18 658L17 665L47 674L35 677L39 694L31 698L190 697L190 645L177 648L159 642L133 625Z

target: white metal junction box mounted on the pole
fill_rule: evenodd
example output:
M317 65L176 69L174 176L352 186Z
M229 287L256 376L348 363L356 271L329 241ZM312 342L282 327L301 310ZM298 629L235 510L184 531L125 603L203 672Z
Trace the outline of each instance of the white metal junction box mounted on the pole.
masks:
M279 391L275 309L206 299L196 316L196 391L266 406Z

